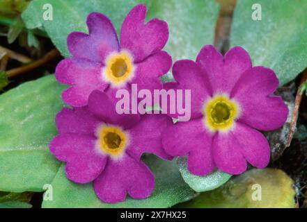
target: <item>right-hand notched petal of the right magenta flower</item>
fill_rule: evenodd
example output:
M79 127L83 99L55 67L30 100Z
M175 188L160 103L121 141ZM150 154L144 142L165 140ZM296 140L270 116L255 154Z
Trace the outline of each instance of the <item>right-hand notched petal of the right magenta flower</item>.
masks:
M280 96L270 96L278 87L274 71L253 67L246 71L231 92L239 105L239 121L258 130L275 130L288 116L287 105Z

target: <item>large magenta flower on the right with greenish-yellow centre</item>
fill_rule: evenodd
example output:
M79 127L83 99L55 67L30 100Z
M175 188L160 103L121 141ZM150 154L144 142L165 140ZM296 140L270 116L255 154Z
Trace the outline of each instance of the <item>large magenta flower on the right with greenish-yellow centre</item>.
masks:
M225 58L213 46L201 49L196 62L173 65L176 83L165 89L191 89L191 120L166 128L162 143L166 153L187 157L187 167L198 176L215 167L239 174L246 161L264 168L270 148L258 130L283 125L288 108L280 96L274 71L252 67L249 54L234 47Z

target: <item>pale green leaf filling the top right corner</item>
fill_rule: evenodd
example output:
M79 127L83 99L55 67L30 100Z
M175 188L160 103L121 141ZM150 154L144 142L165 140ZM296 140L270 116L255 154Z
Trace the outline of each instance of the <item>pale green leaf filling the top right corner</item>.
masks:
M262 20L251 18L254 3ZM280 85L307 66L307 1L239 0L235 7L230 42L249 51L254 66L274 69Z

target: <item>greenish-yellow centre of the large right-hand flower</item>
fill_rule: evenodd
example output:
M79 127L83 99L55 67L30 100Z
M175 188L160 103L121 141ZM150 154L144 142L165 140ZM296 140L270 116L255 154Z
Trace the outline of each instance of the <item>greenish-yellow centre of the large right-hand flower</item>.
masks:
M227 131L239 115L239 106L227 96L217 95L204 108L205 125L212 131Z

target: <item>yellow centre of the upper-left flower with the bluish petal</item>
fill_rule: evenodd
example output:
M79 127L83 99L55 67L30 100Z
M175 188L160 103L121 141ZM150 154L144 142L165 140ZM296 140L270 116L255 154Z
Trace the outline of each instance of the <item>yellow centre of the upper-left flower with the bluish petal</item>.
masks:
M128 52L112 53L106 60L104 78L113 85L122 85L132 78L134 66Z

